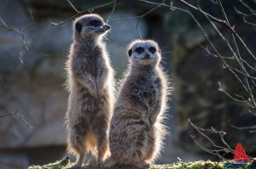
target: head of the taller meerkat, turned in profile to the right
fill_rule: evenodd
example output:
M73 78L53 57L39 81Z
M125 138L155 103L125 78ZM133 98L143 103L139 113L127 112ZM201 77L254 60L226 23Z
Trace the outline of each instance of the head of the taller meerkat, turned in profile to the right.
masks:
M110 25L106 24L98 14L84 14L73 21L75 40L97 39L108 30Z

